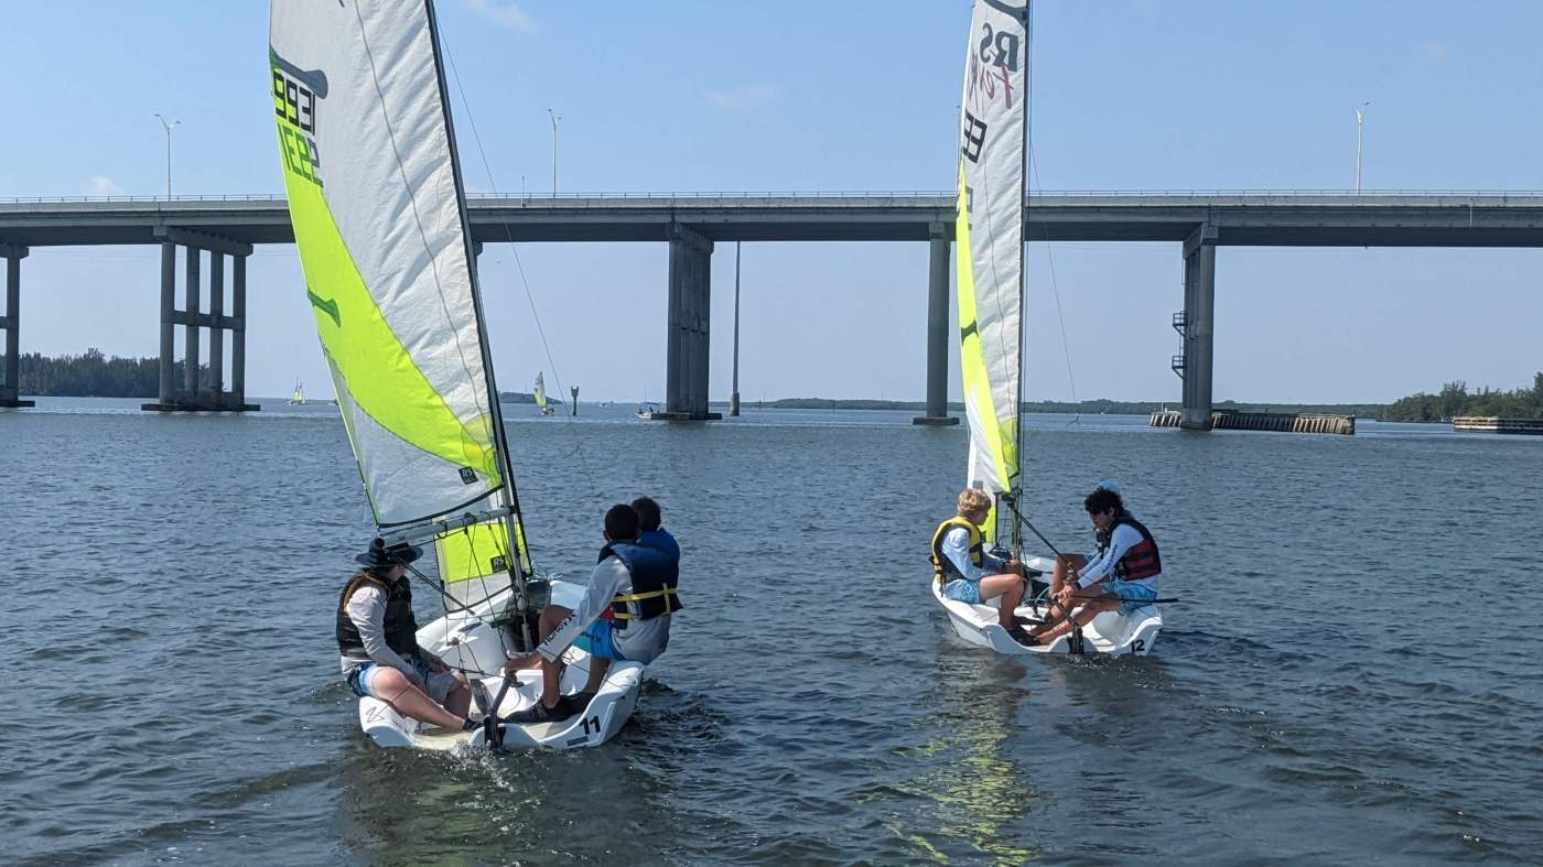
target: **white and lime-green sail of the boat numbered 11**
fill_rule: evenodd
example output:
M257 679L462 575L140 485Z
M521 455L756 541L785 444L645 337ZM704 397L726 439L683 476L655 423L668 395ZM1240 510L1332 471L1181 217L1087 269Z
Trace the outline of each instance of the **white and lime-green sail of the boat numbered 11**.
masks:
M306 298L375 523L412 528L501 508L501 520L440 540L441 579L491 574L494 563L512 574L511 531L518 565L528 557L432 5L273 0L270 28Z

